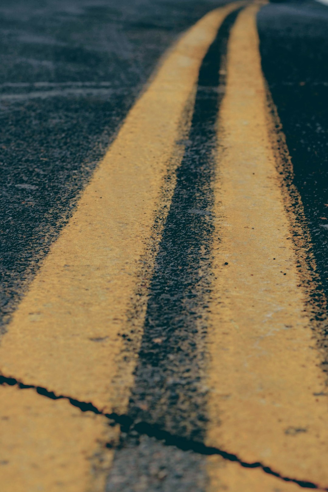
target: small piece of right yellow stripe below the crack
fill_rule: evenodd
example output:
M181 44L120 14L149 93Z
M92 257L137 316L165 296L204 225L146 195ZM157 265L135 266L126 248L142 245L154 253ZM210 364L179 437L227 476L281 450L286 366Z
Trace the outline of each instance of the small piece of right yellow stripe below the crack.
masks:
M220 456L207 459L207 492L299 492L299 485L284 482L260 468L244 468Z

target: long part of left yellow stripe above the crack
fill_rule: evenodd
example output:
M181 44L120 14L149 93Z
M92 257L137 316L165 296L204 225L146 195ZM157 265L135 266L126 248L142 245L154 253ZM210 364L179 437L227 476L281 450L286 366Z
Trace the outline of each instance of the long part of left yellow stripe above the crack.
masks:
M77 210L52 246L0 346L0 371L58 395L124 412L134 359L120 366L121 334L140 279L168 162L181 116L194 94L200 64L224 17L237 3L216 9L184 34L82 194ZM194 95L193 95L194 97ZM189 123L187 123L188 126ZM182 151L181 151L182 149ZM134 330L141 333L145 307Z

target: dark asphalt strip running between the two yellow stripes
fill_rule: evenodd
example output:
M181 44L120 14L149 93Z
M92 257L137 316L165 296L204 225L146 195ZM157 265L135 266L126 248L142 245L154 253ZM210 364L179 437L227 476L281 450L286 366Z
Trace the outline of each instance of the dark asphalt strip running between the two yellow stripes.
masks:
M207 363L205 341L212 275L216 120L225 88L227 41L238 13L234 11L226 17L200 68L186 150L176 171L177 184L150 283L128 409L134 424L146 422L155 429L202 443L208 421L207 391L202 376ZM173 452L172 447L145 437L141 442L135 441L129 431L122 435L108 492L134 491L138 487L145 492L169 492L177 485L181 492L205 492L206 468L202 455ZM175 453L179 456L177 461L172 459ZM153 454L158 459L149 461ZM163 489L162 479L146 473L151 466L165 473ZM117 477L122 475L123 488L116 489Z

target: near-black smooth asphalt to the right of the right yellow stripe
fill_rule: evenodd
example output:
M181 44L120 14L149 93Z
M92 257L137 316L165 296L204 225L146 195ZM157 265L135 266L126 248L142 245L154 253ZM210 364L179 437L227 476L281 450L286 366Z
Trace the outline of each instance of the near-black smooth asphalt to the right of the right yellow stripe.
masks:
M293 162L317 265L313 293L327 353L328 325L328 6L269 4L258 14L262 67Z

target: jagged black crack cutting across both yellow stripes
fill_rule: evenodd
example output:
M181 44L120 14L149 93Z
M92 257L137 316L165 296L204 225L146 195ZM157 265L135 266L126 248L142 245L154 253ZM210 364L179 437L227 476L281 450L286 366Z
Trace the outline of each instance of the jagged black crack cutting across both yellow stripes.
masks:
M267 473L268 475L272 475L284 482L291 482L297 484L299 487L304 489L317 489L321 491L328 491L328 488L320 488L317 484L313 482L307 482L304 480L297 480L296 478L286 477L281 475L278 472L272 470L269 466L261 463L260 461L255 461L253 463L248 463L246 461L242 461L238 455L228 453L220 448L207 446L202 442L194 441L193 439L187 439L185 437L180 437L179 435L172 434L171 432L164 431L160 429L156 424L149 424L148 422L140 421L135 422L128 415L119 415L117 413L105 413L99 410L96 406L94 406L91 402L79 401L71 398L69 396L64 395L56 395L53 391L48 391L46 388L42 388L41 386L28 385L24 384L13 377L5 377L0 375L0 385L1 386L17 386L19 389L32 389L35 390L37 394L50 398L51 400L68 400L71 405L80 408L82 412L93 412L96 415L103 415L108 420L110 420L110 425L119 425L121 432L130 433L136 432L139 435L147 435L148 437L154 437L158 441L164 441L166 446L175 446L181 451L193 451L194 453L198 453L200 455L205 456L213 456L218 455L221 456L224 460L239 463L240 466L244 468L261 468L262 471ZM113 444L106 444L107 448L112 448ZM120 446L118 446L119 448ZM121 446L123 447L123 446Z

